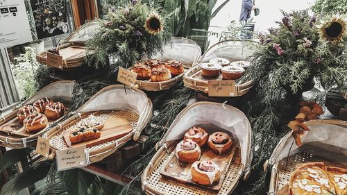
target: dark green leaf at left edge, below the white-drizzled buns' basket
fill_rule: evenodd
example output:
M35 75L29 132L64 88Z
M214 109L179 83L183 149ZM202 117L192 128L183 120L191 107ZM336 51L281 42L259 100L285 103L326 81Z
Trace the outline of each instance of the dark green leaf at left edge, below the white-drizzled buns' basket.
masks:
M3 155L3 158L0 160L0 173L7 169L8 167L11 167L13 164L16 164L19 161L26 160L26 155L31 153L31 149L12 149L10 151L6 151L6 153Z

